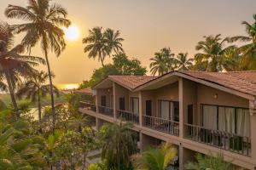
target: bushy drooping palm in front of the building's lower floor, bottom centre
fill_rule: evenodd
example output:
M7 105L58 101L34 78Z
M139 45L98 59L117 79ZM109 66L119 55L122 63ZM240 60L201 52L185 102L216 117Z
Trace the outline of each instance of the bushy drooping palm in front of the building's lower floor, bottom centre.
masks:
M130 156L137 150L137 141L131 131L131 123L114 122L103 134L102 160L107 169L129 168Z

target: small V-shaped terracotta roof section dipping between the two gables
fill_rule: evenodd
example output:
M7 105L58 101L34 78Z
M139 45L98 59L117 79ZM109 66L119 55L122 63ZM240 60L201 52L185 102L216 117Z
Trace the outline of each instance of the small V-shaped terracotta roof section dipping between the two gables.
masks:
M113 82L117 82L119 85L129 88L129 89L134 89L137 88L138 86L149 82L151 80L156 79L157 77L148 77L148 76L109 76L108 77L110 80Z

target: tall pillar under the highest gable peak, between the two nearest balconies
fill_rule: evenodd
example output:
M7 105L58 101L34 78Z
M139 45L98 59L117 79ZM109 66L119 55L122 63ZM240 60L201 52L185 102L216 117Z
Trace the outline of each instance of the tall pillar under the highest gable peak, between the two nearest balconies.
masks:
M183 138L183 78L178 79L179 137Z

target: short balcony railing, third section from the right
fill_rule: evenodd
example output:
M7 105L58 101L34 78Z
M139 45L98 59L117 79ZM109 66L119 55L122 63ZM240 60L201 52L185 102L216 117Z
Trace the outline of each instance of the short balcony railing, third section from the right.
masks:
M118 119L124 120L126 122L134 122L136 124L139 123L139 116L136 113L132 113L130 111L117 110L116 114Z

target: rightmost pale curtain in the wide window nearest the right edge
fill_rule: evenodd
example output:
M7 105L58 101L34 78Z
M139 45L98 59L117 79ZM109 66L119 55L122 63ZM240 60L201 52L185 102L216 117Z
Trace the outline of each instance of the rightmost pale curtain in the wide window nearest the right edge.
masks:
M237 134L250 137L250 115L247 109L237 109L236 112L236 128Z

